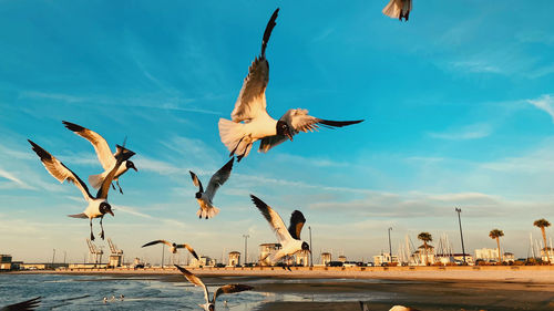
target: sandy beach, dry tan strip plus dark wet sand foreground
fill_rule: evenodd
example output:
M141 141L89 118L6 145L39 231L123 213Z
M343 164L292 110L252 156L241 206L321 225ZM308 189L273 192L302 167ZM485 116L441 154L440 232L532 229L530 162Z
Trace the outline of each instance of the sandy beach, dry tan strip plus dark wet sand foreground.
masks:
M240 282L265 296L259 311L389 310L394 304L420 310L554 310L554 267L406 267L356 269L192 269L208 286ZM40 273L22 272L22 273ZM21 273L21 272L20 272ZM185 281L174 269L53 271Z

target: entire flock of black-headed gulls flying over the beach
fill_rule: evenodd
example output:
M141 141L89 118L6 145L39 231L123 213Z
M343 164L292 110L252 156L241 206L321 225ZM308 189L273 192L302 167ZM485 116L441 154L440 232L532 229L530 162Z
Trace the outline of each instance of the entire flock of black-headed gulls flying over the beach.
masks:
M398 18L400 20L404 19L407 21L411 7L411 0L391 0L390 3L383 9L383 13L391 18ZM199 218L209 219L219 212L219 209L213 205L214 196L217 189L229 178L235 156L237 163L244 157L247 157L255 142L260 141L258 151L267 153L269 149L286 142L287 139L293 141L294 136L300 132L314 132L318 131L319 127L343 127L363 121L324 120L309 115L308 111L302 108L288 110L279 120L275 120L269 116L266 110L267 104L265 95L267 83L269 81L269 63L266 59L265 52L271 31L276 25L278 12L279 9L276 9L267 23L261 40L260 55L255 58L248 69L248 75L243 83L243 87L230 115L232 120L220 118L218 122L219 136L223 144L229 151L230 159L212 176L206 189L204 189L202 182L198 179L196 174L189 172L193 184L198 187L195 198L199 205L199 209L196 212L196 216ZM114 216L112 206L107 203L107 193L111 187L115 189L115 186L113 185L115 182L120 193L123 194L123 189L119 184L119 178L129 169L137 172L134 163L130 160L135 153L125 148L125 143L123 143L122 146L116 145L115 153L112 153L107 142L100 134L71 122L63 121L62 123L68 129L89 141L94 147L96 156L104 169L101 174L89 176L89 184L92 188L98 189L95 196L91 194L86 184L58 158L52 156L34 142L29 139L29 143L47 170L60 183L66 180L74 184L81 190L85 201L88 203L83 212L69 215L69 217L89 219L91 240L94 240L92 219L100 218L100 237L104 239L102 220L106 214ZM293 256L302 250L310 251L309 245L300 239L300 232L304 224L306 222L306 218L301 211L295 210L291 214L290 224L287 228L283 218L270 206L254 195L250 195L250 198L264 218L269 222L270 228L277 236L278 242L281 245L280 249L274 250L265 258L261 258L261 265L275 265L284 257ZM172 253L176 253L178 249L186 248L193 257L198 259L196 251L187 243L154 240L143 245L143 247L158 243L167 245ZM198 277L194 276L183 267L177 265L175 265L175 267L191 283L204 289L205 303L198 305L206 311L215 310L215 300L222 294L253 289L253 287L246 284L226 284L218 288L211 299L207 287ZM25 302L4 307L0 310L33 310L39 302L40 298L35 298ZM362 310L369 310L368 305L363 302L360 302L360 308ZM404 307L394 305L390 310L416 310L401 308Z

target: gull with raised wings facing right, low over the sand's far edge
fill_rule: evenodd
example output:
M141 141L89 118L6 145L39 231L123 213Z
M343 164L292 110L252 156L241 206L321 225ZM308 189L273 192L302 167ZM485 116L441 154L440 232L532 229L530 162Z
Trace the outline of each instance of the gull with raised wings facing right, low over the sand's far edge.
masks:
M281 248L277 251L269 253L266 258L261 259L265 265L275 265L279 259L285 256L291 256L300 250L310 251L307 242L300 240L300 231L302 230L306 218L299 210L293 211L290 215L290 226L285 227L285 222L280 218L279 214L270 208L263 200L254 195L250 195L252 201L261 211L261 215L269 222L269 227L275 231L277 240L281 245Z

